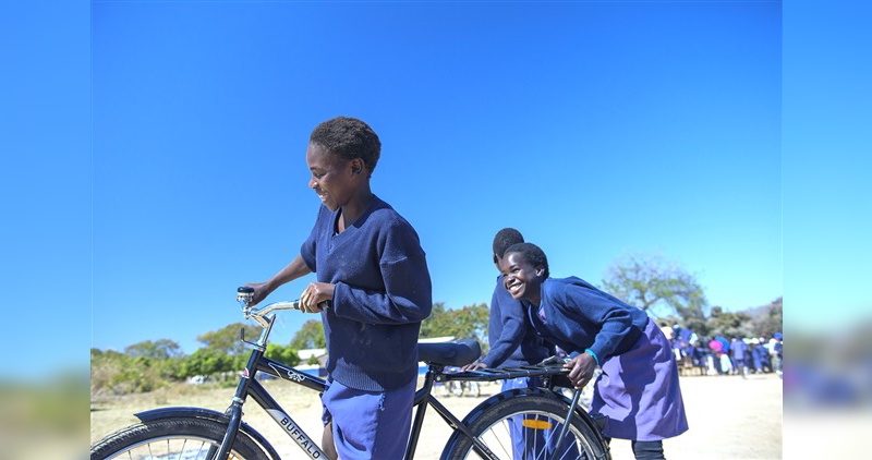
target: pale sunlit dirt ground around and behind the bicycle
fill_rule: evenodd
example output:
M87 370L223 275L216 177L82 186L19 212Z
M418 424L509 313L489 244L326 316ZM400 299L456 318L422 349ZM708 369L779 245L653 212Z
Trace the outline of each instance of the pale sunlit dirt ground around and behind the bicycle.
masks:
M320 401L317 395L282 382L268 382L267 388L291 413L294 421L320 439ZM439 400L462 419L486 397L499 391L499 384L484 384L482 395L440 397ZM664 441L666 457L676 459L780 459L782 458L782 380L774 374L739 376L681 377L681 392L690 429ZM146 395L105 398L92 401L92 443L136 423L133 413L170 405L192 405L223 411L233 388L180 385ZM438 392L436 394L439 395ZM246 404L244 420L272 441L284 459L300 458L298 447L254 402ZM451 429L435 413L425 417L416 459L438 459ZM615 460L632 459L630 443L611 443Z

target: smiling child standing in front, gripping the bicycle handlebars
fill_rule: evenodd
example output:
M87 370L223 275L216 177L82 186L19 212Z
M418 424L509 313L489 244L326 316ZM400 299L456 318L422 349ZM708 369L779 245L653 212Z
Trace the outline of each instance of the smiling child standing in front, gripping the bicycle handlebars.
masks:
M402 458L419 331L433 306L417 233L370 187L380 148L358 119L337 117L315 128L306 149L308 186L322 202L315 226L288 266L249 285L256 304L281 285L317 274L300 296L301 311L320 314L324 324L323 449L343 460Z

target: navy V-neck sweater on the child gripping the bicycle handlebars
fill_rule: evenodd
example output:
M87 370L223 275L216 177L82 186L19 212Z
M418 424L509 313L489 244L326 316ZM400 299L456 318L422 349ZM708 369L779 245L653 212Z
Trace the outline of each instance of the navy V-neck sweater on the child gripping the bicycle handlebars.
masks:
M322 313L327 371L351 388L384 391L417 376L417 336L433 307L424 250L411 225L373 196L336 233L340 210L322 206L300 254L320 282L336 285Z

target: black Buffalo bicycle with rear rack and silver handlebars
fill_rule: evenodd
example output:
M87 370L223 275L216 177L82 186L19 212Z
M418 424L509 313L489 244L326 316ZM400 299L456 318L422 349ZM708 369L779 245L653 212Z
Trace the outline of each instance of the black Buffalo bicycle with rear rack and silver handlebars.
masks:
M223 413L203 408L164 408L136 415L140 423L119 429L90 447L92 460L102 459L246 459L278 460L269 440L242 420L242 407L251 397L279 424L310 459L326 459L324 450L294 422L291 414L255 378L258 373L301 385L317 397L326 382L264 355L276 313L299 310L299 301L276 302L262 308L249 306L253 290L240 288L238 301L246 319L263 326L259 338L242 372L235 394ZM446 366L463 366L480 358L475 340L419 343L420 361L427 364L423 386L416 390L415 413L404 459L413 459L428 408L453 428L441 459L609 459L608 446L596 421L556 388L566 385L562 360L537 366L445 373ZM458 419L432 395L435 383L495 382L506 378L541 377L541 388L504 391L476 405L463 420ZM512 428L513 426L513 428ZM512 429L514 434L512 434ZM521 446L522 452L518 451ZM512 450L516 450L512 453Z

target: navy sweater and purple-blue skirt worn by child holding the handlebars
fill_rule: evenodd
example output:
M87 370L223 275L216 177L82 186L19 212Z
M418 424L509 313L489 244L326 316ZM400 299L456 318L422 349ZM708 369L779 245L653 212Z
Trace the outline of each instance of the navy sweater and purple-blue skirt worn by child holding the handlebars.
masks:
M433 307L426 257L412 226L377 196L341 233L339 215L322 206L300 250L317 280L335 285L332 306L322 313L329 373L325 422L334 422L340 458L401 458L419 331ZM365 427L358 423L361 414Z

